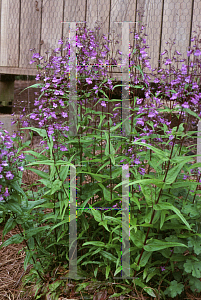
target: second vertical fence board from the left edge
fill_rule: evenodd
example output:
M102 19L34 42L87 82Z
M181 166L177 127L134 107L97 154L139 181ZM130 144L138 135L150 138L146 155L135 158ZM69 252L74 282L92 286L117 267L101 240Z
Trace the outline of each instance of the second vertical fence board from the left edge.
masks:
M41 0L27 3L21 0L20 23L20 61L19 67L35 68L29 62L32 59L31 48L40 50Z

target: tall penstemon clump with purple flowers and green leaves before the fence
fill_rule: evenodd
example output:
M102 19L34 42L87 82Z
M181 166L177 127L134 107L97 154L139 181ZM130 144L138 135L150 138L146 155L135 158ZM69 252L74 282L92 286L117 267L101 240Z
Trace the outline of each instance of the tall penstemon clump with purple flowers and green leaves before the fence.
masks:
M30 188L24 199L17 199L23 222L19 223L19 218L15 221L23 232L6 240L1 247L26 241L24 267L33 263L33 268L25 277L24 286L35 282L36 299L48 293L58 299L59 293L70 292L70 285L65 290L65 282L56 280L56 274L61 276L68 272L68 178L69 166L76 164L77 202L80 203L77 212L78 275L95 277L99 287L90 281L79 283L75 294L71 291L70 295L87 289L95 293L105 279L109 284L118 283L113 297L133 296L136 286L158 299L182 297L188 286L193 293L201 292L201 202L198 196L198 167L201 165L192 163L196 155L187 156L188 148L184 145L194 133L189 131L189 120L192 117L200 120L199 34L192 39L194 45L188 51L186 64L177 51L171 57L173 44L170 44L169 53L165 50L161 54L166 56L160 69L152 70L144 26L139 27L135 33L135 49L127 58L131 74L131 134L122 136L122 122L117 118L121 117L122 100L113 99L117 85L113 86L109 73L100 66L117 64L117 60L110 56L110 41L105 36L102 44L98 40L99 29L97 27L94 33L86 27L78 28L72 38L78 48L76 136L69 135L68 123L70 41L64 45L59 40L61 47L55 49L55 55L49 60L39 53L33 55L31 63L37 63L39 71L36 80L41 81L35 87L40 86L41 94L35 101L36 109L26 115L22 126L41 136L44 150L40 153L28 150L23 154L25 170L31 170L40 179L36 183L37 191ZM57 56L61 51L67 54ZM94 66L88 68L91 60ZM155 91L146 75L147 69L155 76ZM100 79L101 76L104 79ZM145 99L136 95L138 89L144 92ZM170 107L164 100L171 102ZM178 117L176 126L172 125L174 112ZM33 122L35 126L31 126ZM40 165L49 166L49 173L34 168ZM131 276L135 278L131 282L125 279L127 285L113 279L122 268L120 166L129 169L130 177L129 251ZM89 175L91 182L83 185L83 175ZM9 207L10 199L2 200L1 207L6 201ZM98 207L110 209L99 211ZM18 214L13 209L11 205L4 236L11 230L12 213ZM45 209L50 212L45 213ZM107 292L104 295L107 296Z

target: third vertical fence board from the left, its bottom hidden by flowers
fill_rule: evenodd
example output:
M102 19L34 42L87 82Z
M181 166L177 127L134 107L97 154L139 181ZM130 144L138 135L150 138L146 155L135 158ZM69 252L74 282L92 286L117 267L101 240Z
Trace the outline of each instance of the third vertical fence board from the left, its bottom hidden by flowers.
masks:
M42 28L41 28L41 55L45 52L59 48L58 40L62 38L62 16L63 1L48 0L43 1Z

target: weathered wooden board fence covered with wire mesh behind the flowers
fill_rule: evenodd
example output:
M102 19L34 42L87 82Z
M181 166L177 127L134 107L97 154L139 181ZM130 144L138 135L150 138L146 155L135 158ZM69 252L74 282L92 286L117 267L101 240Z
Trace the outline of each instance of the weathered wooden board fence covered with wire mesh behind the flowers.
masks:
M0 73L35 75L30 49L43 55L58 47L58 40L69 32L69 25L62 22L86 21L93 28L101 21L102 32L120 34L120 48L122 24L115 22L133 22L129 25L133 31L140 8L152 66L158 66L169 38L175 38L178 51L186 52L192 32L201 25L200 0L0 0ZM133 37L130 33L131 44Z

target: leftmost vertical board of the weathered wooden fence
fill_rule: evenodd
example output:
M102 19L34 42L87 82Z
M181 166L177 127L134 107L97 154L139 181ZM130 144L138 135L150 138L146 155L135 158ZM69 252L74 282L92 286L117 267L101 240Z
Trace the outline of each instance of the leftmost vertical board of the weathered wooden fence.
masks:
M1 66L18 67L20 1L1 2Z

